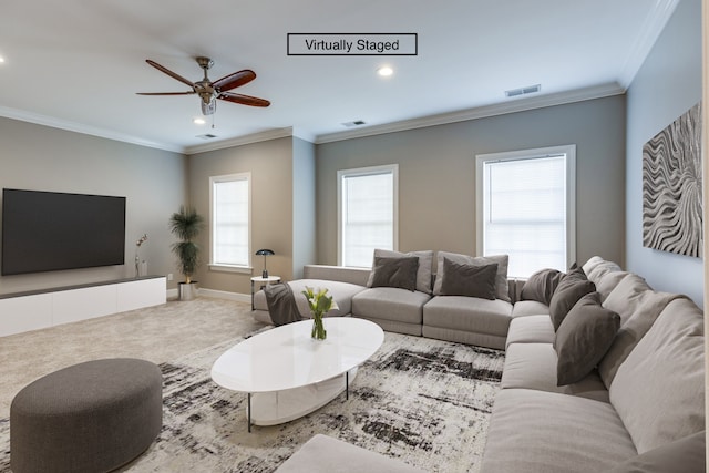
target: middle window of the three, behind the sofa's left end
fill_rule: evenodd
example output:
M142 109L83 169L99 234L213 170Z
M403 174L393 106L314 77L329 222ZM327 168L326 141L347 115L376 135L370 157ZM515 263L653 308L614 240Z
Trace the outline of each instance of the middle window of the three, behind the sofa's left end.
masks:
M338 171L338 264L369 268L376 248L397 249L399 166Z

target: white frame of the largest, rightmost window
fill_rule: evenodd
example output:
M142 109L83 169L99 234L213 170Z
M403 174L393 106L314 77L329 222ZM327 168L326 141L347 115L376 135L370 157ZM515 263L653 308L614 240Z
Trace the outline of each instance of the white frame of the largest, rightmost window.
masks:
M476 247L484 255L484 169L486 162L534 160L558 155L566 156L566 267L576 261L576 145L559 145L475 156ZM540 268L542 269L542 268ZM515 276L515 275L511 275Z

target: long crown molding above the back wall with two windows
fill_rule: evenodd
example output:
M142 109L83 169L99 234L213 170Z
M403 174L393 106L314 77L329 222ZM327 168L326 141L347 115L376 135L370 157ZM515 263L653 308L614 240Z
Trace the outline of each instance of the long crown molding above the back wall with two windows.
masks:
M626 89L613 82L609 84L595 85L586 89L578 89L568 92L559 92L548 95L537 95L533 97L513 99L508 102L493 105L479 106L458 112L442 113L438 115L422 116L401 122L386 123L382 125L368 126L366 128L349 130L346 132L328 133L316 137L316 144L332 143L343 140L352 140L364 136L381 135L386 133L402 132L407 130L423 128L427 126L444 125L448 123L465 122L469 120L485 119L489 116L504 115L507 113L524 112L527 110L543 109L554 105L582 102L585 100L602 99L605 96L620 95Z

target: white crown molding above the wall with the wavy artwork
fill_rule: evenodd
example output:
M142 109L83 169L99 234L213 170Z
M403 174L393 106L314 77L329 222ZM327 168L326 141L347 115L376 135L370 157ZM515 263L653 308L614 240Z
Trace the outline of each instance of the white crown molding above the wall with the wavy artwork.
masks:
M638 73L650 50L665 30L665 25L675 12L680 0L656 0L655 8L645 20L640 34L630 49L620 73L619 83L628 89Z

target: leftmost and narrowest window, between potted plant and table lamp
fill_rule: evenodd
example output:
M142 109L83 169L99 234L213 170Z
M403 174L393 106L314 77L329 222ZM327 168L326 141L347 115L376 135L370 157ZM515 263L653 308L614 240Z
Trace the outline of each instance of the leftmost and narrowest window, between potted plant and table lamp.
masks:
M209 178L213 269L250 268L249 173Z

